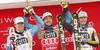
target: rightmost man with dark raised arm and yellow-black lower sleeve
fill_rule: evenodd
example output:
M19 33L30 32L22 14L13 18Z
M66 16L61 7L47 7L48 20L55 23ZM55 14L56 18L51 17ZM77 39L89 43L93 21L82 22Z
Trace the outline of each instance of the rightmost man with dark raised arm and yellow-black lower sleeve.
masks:
M65 11L66 12L66 11ZM92 46L98 47L99 45L99 39L97 36L97 32L95 29L91 26L89 26L89 22L87 21L87 13L84 11L81 11L78 16L78 21L79 21L79 35L83 36L82 42L81 42L81 50L93 50ZM68 28L67 25L68 22L66 22L64 19L66 19L66 14L63 13L62 15L62 24L63 27L66 29L69 29L71 34L73 33L73 27L70 25ZM72 34L72 37L73 34ZM75 45L74 45L75 46ZM75 48L74 48L75 50Z

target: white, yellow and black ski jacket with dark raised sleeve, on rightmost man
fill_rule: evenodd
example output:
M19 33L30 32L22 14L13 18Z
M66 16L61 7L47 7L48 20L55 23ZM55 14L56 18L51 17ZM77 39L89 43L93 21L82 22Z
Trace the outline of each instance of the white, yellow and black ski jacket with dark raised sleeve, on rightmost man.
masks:
M74 41L75 39L74 39L74 35L73 35L73 26L70 23L66 22L66 20L67 20L66 12L68 12L68 11L66 11L66 8L65 8L63 10L62 18L61 18L62 24L65 29L68 29L71 32L73 41ZM70 20L72 20L72 19L70 19ZM98 35L96 33L96 30L93 27L89 26L89 22L87 22L86 25L87 25L86 28L79 26L79 34L83 35L83 41L86 40L85 43L84 42L81 43L81 50L93 50L92 46L97 47L99 45ZM75 42L74 42L74 44L75 44ZM74 45L74 47L75 47L75 45Z

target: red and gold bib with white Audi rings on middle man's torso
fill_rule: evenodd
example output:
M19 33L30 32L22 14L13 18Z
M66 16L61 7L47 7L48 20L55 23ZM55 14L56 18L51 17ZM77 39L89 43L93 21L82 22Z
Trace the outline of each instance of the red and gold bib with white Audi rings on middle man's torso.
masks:
M58 28L52 27L52 30L46 30L44 26L41 28L41 34L39 35L39 39L41 42L41 47L43 50L59 50L59 30Z

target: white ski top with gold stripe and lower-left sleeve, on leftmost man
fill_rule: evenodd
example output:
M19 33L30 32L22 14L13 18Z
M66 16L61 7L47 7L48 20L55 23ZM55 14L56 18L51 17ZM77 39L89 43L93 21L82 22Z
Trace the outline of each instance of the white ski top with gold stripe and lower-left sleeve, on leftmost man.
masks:
M28 30L24 30L21 34L18 34L15 31L15 42L16 50L32 50L32 36ZM11 50L11 48L11 41L10 37L8 36L6 50Z

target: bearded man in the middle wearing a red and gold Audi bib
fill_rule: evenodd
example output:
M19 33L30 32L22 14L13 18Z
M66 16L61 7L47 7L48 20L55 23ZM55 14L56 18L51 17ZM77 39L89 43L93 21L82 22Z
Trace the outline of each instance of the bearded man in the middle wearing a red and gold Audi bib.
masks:
M63 6L66 6L66 4ZM34 15L36 15L36 14L34 14ZM69 16L71 16L71 15L69 15ZM24 17L24 19L27 19L27 18ZM55 27L52 26L52 22L53 22L52 14L50 12L45 12L43 14L42 19L43 19L44 25L41 28L40 34L38 34L39 35L38 38L41 41L42 49L43 50L61 50L60 46L59 46L60 39L59 39L58 26L57 25ZM68 21L68 22L70 22L70 21ZM27 26L26 28L31 26L28 24L25 24L25 25ZM31 27L29 27L29 28L31 28Z

